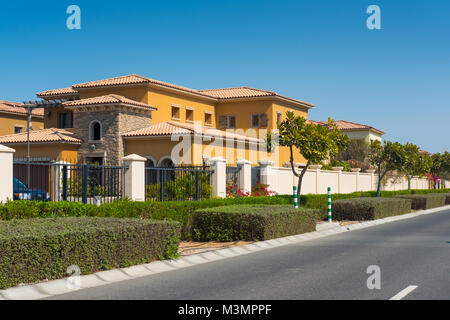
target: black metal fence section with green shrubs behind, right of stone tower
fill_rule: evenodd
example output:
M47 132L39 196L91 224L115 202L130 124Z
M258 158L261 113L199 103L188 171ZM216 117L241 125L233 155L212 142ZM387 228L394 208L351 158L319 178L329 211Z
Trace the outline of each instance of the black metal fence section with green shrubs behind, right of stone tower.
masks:
M145 198L154 201L193 201L212 196L208 166L145 168Z

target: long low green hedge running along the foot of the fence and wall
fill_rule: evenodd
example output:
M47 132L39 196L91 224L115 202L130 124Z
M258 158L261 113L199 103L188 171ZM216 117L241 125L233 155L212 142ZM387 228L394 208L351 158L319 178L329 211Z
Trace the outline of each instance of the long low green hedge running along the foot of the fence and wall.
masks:
M408 191L382 191L383 197L392 197L399 194L420 194L449 192L446 190L412 190ZM375 191L354 192L349 194L333 194L332 200L350 199L355 197L375 197ZM307 194L299 199L301 207L319 209L320 219L327 219L327 195ZM172 220L181 223L182 239L192 238L192 219L194 212L203 208L214 208L228 205L293 205L291 195L278 195L272 197L248 197L230 199L210 199L202 201L146 201L133 202L128 200L103 204L100 207L76 202L37 202L37 201L10 201L0 205L0 219L45 218L45 217L116 217L116 218L142 218L153 220Z

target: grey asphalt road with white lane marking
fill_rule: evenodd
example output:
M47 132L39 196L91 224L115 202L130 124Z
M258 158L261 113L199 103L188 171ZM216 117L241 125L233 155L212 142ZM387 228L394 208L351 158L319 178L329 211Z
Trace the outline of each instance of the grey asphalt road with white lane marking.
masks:
M367 268L380 267L369 290ZM52 299L450 299L450 210Z

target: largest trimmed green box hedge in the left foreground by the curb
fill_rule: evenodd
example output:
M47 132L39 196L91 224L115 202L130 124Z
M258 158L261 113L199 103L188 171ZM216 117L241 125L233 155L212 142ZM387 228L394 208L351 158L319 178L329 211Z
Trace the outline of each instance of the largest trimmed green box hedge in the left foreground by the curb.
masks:
M0 289L178 256L174 222L48 218L0 223Z

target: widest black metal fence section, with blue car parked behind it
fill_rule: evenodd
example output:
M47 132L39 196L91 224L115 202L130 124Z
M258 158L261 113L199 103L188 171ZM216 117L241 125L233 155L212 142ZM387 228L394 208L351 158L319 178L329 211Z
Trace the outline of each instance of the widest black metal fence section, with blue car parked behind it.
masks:
M101 204L125 197L124 166L14 160L14 199Z

